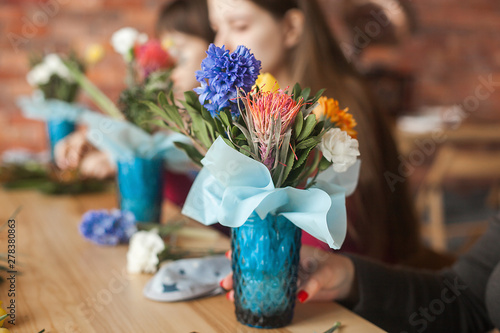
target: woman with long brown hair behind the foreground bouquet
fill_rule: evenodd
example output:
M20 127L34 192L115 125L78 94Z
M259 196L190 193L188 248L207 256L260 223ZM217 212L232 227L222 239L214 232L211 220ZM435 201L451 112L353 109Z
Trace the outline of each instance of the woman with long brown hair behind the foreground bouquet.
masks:
M348 238L344 249L391 263L441 266L423 260L419 225L405 182L398 174L398 151L380 110L359 74L332 36L316 0L208 0L215 43L243 44L262 61L262 72L281 87L299 82L339 100L358 122L362 166L358 188L348 198Z

